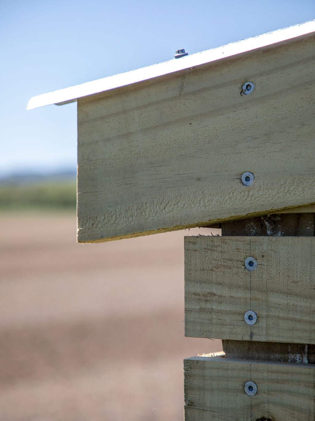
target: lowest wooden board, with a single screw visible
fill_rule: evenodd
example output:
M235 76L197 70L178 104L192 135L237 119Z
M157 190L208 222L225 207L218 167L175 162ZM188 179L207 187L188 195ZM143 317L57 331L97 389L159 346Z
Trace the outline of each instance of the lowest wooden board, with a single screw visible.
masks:
M184 372L185 421L314 420L315 365L192 357Z

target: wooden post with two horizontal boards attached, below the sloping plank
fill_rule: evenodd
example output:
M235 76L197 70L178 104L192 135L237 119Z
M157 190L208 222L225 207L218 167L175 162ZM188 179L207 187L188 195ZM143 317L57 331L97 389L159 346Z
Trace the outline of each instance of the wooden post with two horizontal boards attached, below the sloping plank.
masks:
M186 336L222 338L226 353L184 361L186 421L314 419L314 220L262 216L185 238Z

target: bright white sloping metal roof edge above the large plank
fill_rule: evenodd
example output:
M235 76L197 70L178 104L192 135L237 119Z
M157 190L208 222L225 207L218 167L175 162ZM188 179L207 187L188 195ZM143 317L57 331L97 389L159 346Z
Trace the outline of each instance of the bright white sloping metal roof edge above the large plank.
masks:
M264 47L265 45L299 37L300 35L305 35L310 32L315 32L315 19L291 27L277 29L276 31L268 32L266 34L257 35L256 37L247 38L246 40L223 45L221 47L200 51L199 53L184 56L180 59L164 61L163 63L153 64L152 66L142 67L141 69L131 70L130 72L103 77L102 79L71 86L70 88L59 89L58 91L33 96L33 98L29 100L27 109L34 109L50 104L61 105L74 102L83 96L93 95L95 93L163 76L168 73L188 69L200 64L209 63L210 61Z

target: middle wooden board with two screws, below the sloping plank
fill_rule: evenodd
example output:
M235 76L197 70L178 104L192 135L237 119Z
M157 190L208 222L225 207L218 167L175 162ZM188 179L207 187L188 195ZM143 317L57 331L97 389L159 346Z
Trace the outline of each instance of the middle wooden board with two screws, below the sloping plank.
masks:
M314 298L315 237L185 237L186 336L315 344Z

